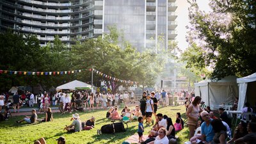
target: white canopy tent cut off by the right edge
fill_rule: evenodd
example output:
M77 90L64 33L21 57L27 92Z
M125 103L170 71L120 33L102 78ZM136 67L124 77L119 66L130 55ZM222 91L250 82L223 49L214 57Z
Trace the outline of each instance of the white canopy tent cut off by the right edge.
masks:
M253 104L252 102L255 102L254 97L246 97L246 95L255 95L255 92L253 93L252 91L255 91L256 73L237 79L237 84L239 86L239 100L237 110L241 111L244 107L246 99L247 101L250 101L251 104Z

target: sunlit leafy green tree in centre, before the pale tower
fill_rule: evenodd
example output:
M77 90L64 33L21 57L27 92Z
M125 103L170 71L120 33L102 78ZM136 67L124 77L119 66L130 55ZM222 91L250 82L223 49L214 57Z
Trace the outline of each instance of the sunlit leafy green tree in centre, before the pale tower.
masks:
M74 58L75 67L92 68L104 72L111 77L123 80L137 81L138 84L145 86L154 85L154 79L159 69L156 64L161 65L161 61L156 58L156 54L150 51L137 52L128 42L122 40L115 27L109 28L111 33L102 37L89 39L82 44L77 43L72 47L72 58ZM121 44L120 44L121 43ZM95 75L94 75L95 76ZM96 75L93 79L96 81L104 80L112 92L116 92L120 85L128 86L129 83L121 83ZM81 74L81 77L90 81L90 73ZM95 80L93 80L95 83Z

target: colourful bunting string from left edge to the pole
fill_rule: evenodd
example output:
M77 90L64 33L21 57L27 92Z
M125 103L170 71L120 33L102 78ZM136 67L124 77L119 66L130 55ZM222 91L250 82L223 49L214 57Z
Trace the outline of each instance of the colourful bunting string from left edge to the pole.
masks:
M86 69L58 71L58 72L26 72L26 71L0 70L0 74L48 76L48 75L76 74L85 70Z

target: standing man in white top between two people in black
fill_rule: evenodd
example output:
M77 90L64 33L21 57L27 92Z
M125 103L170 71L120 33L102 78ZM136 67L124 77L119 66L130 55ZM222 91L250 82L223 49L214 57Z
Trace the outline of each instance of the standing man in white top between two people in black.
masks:
M152 122L151 117L152 117L152 113L154 114L154 102L152 99L150 99L150 94L147 94L147 100L146 100L146 104L147 104L147 108L146 108L146 122L147 122L147 126L150 125L150 122ZM154 122L152 122L152 124L154 124Z

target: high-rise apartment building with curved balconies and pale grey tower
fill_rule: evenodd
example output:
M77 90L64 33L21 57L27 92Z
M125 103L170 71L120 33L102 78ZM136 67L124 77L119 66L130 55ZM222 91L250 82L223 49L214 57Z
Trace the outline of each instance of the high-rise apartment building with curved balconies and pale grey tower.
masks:
M108 33L116 25L125 40L154 47L161 35L164 47L174 40L176 0L0 0L0 31L11 28L36 35L42 45L58 35L66 44Z

